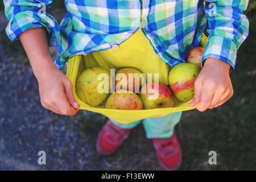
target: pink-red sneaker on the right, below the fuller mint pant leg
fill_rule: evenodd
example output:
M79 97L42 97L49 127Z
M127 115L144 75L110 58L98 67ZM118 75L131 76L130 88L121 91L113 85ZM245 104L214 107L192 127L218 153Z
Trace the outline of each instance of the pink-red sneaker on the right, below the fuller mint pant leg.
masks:
M168 171L176 171L181 164L181 148L174 133L170 138L152 139L160 165Z

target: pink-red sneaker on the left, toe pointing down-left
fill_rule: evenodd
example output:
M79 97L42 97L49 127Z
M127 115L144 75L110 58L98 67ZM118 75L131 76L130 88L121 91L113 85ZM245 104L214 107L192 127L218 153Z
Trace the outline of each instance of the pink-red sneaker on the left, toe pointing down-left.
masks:
M110 155L118 149L128 137L131 129L122 129L107 121L98 134L96 150L101 155Z

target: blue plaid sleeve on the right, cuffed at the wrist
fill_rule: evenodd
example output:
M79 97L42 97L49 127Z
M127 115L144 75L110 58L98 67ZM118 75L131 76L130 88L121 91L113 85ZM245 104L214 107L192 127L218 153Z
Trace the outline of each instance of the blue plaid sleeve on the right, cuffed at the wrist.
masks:
M243 14L248 0L207 0L206 17L208 19L209 39L203 59L214 57L236 65L237 49L249 32L249 21Z

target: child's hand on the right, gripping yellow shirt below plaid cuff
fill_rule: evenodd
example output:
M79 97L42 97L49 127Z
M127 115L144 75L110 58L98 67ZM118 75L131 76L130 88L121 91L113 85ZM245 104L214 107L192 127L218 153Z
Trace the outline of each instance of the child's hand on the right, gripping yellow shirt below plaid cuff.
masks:
M190 106L199 104L196 109L213 109L233 96L232 82L229 77L230 65L224 61L209 58L195 82L195 96Z

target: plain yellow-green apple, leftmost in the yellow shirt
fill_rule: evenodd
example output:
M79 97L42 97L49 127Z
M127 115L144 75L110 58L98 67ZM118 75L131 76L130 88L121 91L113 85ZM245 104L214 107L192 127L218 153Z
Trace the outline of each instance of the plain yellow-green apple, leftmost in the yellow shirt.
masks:
M105 76L105 79L99 79ZM103 84L102 84L103 83ZM101 89L101 90L100 90ZM102 92L102 89L105 92ZM109 96L110 73L101 67L85 69L76 80L76 93L81 101L90 106L98 106Z

